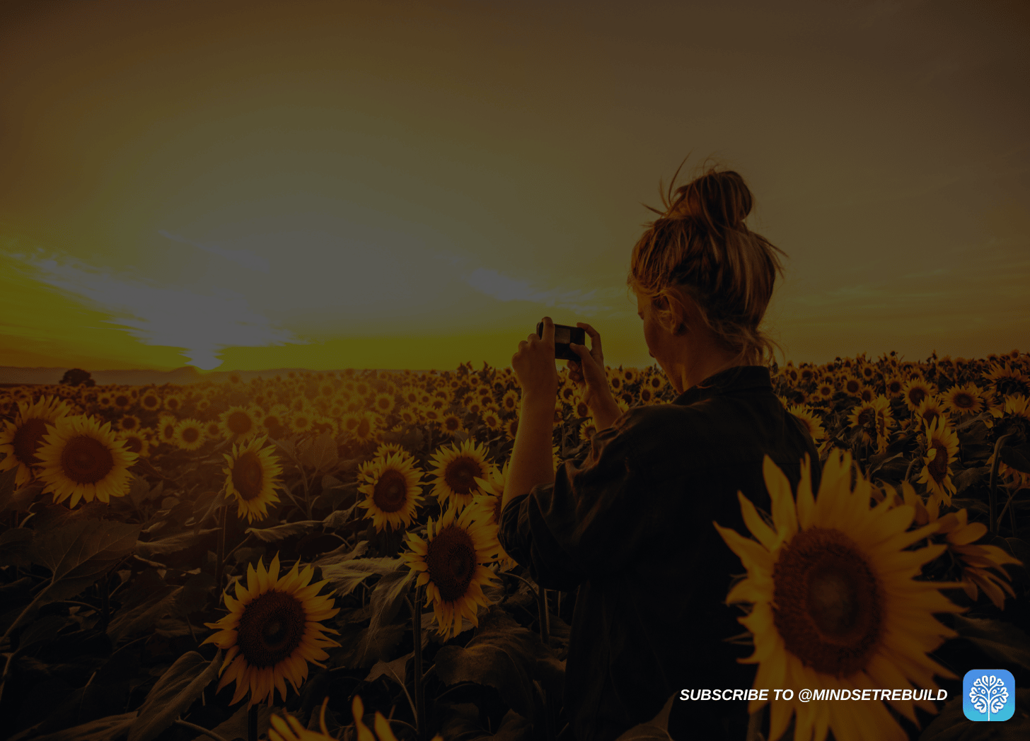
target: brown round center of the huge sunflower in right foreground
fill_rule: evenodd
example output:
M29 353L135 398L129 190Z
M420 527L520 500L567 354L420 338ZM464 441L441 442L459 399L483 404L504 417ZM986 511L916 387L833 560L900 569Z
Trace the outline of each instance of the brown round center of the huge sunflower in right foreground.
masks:
M868 665L881 640L882 590L851 538L826 528L797 533L772 580L774 623L804 666L848 676Z

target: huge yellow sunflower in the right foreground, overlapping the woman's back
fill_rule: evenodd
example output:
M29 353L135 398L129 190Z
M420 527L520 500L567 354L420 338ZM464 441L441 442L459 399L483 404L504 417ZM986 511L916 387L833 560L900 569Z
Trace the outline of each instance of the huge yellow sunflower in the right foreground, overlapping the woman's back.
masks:
M762 472L772 522L766 524L737 493L744 521L758 542L714 523L748 571L726 601L752 604L737 620L754 640L755 652L743 660L759 665L754 686L795 693L792 700L772 703L769 738L780 738L796 713L797 739L824 741L832 730L837 741L903 741L904 731L879 702L856 712L850 703L801 703L797 693L911 689L912 682L923 687L913 693L918 699L890 703L916 724L914 705L935 712L926 693L937 689L933 675L956 678L927 654L956 635L933 613L962 611L939 592L958 585L913 578L947 546L903 550L938 525L906 531L914 508L892 507L886 497L870 508L872 487L855 471L852 491L852 468L849 453L831 455L814 498L805 456L795 504L787 477L765 456ZM752 700L749 710L766 702Z

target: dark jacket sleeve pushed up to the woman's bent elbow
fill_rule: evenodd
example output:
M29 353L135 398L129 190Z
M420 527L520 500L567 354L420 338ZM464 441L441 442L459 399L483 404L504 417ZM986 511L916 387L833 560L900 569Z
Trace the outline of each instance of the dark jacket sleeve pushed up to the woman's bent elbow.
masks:
M641 455L654 436L646 410L630 410L594 434L587 455L558 467L508 503L497 537L546 589L570 592L629 563L639 545L642 493L652 486Z

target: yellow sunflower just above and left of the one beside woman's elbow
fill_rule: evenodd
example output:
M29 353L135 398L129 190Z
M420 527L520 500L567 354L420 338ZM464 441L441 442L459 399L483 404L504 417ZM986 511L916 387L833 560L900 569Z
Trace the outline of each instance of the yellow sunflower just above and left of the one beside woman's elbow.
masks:
M363 484L357 491L365 494L366 499L357 506L368 510L365 517L372 518L376 532L384 527L392 530L411 525L422 500L418 486L422 475L421 469L415 467L415 459L401 453L362 464L358 479Z

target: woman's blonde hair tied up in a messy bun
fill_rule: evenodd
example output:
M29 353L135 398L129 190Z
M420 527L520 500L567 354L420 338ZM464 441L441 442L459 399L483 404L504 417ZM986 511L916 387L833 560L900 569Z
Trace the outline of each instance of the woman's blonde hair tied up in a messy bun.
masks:
M717 342L736 353L731 365L770 364L774 348L781 354L783 348L758 325L777 271L783 276L775 252L786 253L744 224L754 199L737 173L709 168L674 196L680 168L661 193L665 210L646 206L660 218L644 224L626 284L650 298L659 321L677 334L687 325L685 299L692 301Z

